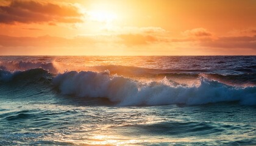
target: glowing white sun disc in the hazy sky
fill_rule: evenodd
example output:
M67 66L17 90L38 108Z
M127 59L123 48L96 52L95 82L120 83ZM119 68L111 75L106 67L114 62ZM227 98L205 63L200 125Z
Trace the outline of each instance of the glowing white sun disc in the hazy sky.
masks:
M112 23L117 18L115 13L104 10L92 10L88 12L88 15L92 21L101 23Z

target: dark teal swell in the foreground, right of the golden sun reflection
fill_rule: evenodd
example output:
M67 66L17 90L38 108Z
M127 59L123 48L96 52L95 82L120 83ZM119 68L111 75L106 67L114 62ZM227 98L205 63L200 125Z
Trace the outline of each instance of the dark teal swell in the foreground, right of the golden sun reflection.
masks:
M123 125L117 128L128 129L130 133L136 132L145 135L162 134L169 136L192 136L195 134L200 136L225 131L224 127L212 122L159 122L153 124Z

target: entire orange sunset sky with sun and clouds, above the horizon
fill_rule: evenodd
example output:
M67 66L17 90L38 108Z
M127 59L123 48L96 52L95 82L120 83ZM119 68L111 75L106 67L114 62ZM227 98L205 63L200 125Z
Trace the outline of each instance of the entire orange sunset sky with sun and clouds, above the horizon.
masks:
M256 1L1 0L0 55L256 55Z

